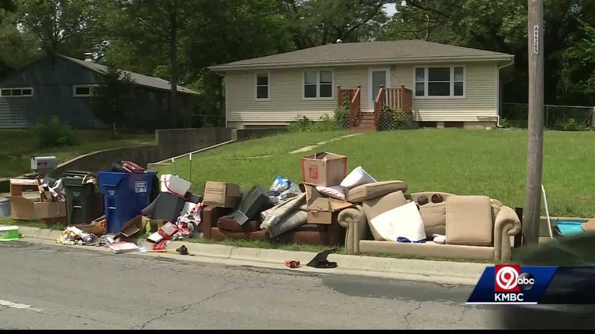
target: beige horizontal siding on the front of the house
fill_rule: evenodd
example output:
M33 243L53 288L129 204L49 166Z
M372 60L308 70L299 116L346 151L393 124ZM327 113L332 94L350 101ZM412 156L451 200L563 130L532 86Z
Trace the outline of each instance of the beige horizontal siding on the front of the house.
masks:
M412 109L417 121L486 121L497 115L496 62L469 62L465 65L465 99L414 99ZM414 87L416 65L390 67L390 86ZM434 66L460 64L431 64ZM353 66L321 68L333 70L333 99L305 100L302 98L303 71L309 68L268 70L270 95L268 100L255 99L255 70L229 71L226 75L226 111L230 126L284 125L306 116L317 120L324 115L333 116L336 109L337 85L355 88L361 85L361 108L369 105L368 75L374 67ZM262 72L262 71L258 71Z

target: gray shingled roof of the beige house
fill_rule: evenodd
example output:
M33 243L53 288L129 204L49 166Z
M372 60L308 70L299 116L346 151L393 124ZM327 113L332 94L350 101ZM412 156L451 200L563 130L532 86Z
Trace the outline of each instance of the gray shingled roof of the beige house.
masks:
M389 40L377 42L333 43L277 55L229 62L209 67L211 70L234 70L254 67L288 67L314 64L369 64L382 61L436 61L456 59L505 60L507 53L463 48L426 42L425 40Z

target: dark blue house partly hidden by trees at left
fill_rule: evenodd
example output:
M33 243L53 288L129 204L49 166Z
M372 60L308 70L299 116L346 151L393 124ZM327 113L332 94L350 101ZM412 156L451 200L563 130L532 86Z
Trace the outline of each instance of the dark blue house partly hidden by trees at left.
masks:
M107 67L87 57L47 56L0 79L0 128L26 128L42 118L57 115L73 128L104 127L89 110L96 75ZM123 120L138 128L170 124L170 82L123 71L133 80L134 102ZM180 110L193 109L201 94L177 86Z

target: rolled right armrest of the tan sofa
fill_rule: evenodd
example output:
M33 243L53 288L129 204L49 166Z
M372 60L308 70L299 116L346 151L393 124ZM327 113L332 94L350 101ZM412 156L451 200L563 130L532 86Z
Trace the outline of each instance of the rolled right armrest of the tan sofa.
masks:
M521 220L515 210L503 205L494 222L494 259L508 261L511 259L511 235L521 232Z

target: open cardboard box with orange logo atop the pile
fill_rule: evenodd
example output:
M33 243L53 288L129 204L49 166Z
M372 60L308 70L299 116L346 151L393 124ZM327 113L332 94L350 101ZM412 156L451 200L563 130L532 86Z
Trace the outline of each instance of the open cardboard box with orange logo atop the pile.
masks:
M311 185L330 187L347 176L347 157L321 152L302 157L302 180Z

